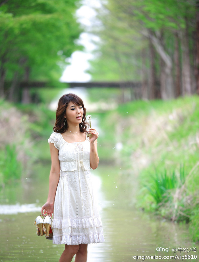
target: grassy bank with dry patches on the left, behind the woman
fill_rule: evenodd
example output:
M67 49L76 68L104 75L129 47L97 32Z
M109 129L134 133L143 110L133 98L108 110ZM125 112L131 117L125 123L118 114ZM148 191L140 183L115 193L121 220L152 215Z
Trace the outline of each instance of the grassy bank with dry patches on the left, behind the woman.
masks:
M31 176L35 161L50 159L47 137L55 112L40 105L0 101L0 189Z

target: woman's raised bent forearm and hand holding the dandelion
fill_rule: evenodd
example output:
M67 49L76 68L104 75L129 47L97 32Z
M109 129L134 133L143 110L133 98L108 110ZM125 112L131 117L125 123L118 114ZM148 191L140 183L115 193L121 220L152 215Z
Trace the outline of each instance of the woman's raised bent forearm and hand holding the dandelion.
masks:
M95 130L95 128L89 128L88 130L89 134L92 134L92 136L89 136L90 139L90 167L92 169L96 169L99 164L99 156L98 156L98 132Z

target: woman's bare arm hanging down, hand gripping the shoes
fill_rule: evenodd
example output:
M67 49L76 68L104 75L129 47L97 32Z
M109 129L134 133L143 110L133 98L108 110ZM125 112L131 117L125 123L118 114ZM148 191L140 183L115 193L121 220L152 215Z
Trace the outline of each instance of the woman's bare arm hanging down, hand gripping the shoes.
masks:
M53 215L54 208L54 200L55 193L57 190L57 185L59 182L60 175L60 166L59 166L59 158L58 158L58 150L55 148L53 143L49 143L50 145L50 155L51 155L51 170L49 176L49 192L47 202L42 206L41 212L47 215Z

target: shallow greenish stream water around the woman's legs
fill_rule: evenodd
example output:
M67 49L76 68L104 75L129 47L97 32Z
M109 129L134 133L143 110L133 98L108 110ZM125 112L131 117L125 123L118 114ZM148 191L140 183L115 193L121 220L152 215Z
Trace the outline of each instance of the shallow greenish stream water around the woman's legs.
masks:
M32 179L24 178L22 184L10 186L0 193L0 261L52 262L59 261L63 252L64 245L53 245L45 236L36 235L33 223L47 199L50 164L41 163L34 169ZM88 245L88 262L199 261L199 257L194 259L198 251L192 250L199 245L191 243L188 226L159 220L136 210L130 201L135 197L133 186L118 183L116 177L109 175L109 170L112 174L113 167L99 166L92 171L105 242ZM115 167L116 176L117 172ZM174 253L173 248L186 248L186 251ZM153 255L181 257L146 258ZM190 258L182 259L185 255Z

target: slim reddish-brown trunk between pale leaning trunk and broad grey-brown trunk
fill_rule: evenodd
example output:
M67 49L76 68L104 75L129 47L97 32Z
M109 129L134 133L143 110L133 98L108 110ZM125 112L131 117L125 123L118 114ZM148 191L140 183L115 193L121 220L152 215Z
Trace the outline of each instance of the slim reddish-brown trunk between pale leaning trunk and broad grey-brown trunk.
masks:
M174 64L175 64L175 96L181 95L181 70L180 70L180 53L179 53L179 38L175 33L175 51L174 51Z

